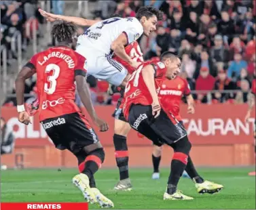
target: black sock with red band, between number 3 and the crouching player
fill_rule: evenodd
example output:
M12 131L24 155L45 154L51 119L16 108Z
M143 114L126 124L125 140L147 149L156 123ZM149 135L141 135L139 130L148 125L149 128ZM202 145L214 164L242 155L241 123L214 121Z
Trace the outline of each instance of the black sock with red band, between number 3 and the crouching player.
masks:
M113 142L115 146L115 161L120 173L120 180L125 180L129 177L128 171L128 147L126 137L124 135L113 135Z

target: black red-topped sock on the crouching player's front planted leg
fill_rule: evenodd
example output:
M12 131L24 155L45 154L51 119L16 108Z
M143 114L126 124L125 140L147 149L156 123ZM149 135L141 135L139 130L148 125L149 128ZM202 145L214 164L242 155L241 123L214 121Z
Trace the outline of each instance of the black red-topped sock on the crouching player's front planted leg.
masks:
M175 152L170 165L170 175L168 178L167 193L173 194L177 191L177 185L181 175L187 165L187 154Z

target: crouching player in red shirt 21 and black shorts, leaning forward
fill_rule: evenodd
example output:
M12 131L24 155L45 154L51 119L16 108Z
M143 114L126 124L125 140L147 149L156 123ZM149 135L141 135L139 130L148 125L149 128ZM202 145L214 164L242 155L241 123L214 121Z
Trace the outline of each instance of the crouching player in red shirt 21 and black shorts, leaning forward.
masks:
M161 108L158 92L164 78L174 79L181 68L181 60L170 52L162 54L161 62L145 62L132 74L125 91L124 116L128 123L139 133L145 135L154 144L162 146L167 144L175 150L172 157L170 176L164 200L191 200L177 190L179 179L187 165L191 144L187 138L187 131L175 119L168 109ZM218 192L204 187L209 184L204 181L204 186L198 192Z

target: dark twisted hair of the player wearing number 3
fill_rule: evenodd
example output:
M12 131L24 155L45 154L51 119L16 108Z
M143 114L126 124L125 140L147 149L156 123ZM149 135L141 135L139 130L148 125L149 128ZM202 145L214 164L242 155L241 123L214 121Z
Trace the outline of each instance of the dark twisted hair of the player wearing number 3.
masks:
M60 21L52 26L52 37L58 42L71 41L77 32L77 26L72 22Z

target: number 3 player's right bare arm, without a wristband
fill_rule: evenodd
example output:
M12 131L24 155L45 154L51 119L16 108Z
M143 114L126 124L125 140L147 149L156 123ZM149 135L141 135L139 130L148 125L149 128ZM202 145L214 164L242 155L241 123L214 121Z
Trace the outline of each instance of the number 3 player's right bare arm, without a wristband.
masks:
M86 110L90 114L92 121L94 121L94 123L100 128L100 131L107 131L109 129L109 126L105 121L98 118L98 115L96 114L92 105L90 90L86 82L86 77L82 75L77 75L75 76L75 81L77 83L77 92L79 94L79 97L81 98L81 102L86 107Z

